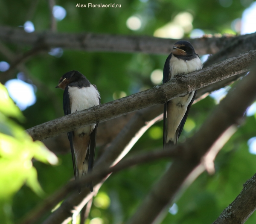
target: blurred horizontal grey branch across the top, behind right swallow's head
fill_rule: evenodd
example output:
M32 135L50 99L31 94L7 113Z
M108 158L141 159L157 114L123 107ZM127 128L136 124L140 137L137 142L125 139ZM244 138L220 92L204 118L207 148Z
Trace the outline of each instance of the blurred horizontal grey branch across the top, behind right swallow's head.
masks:
M254 38L256 37L256 34ZM241 36L246 37L247 35ZM191 42L195 51L200 54L214 54L227 43L237 37L223 36L221 38L195 38L185 39ZM23 29L0 26L0 40L13 44L35 45L39 40L44 41L49 48L62 47L65 49L84 51L109 52L144 52L152 54L169 54L174 39L155 38L150 36L126 36L95 33L53 33L32 32L26 33ZM253 49L253 48L251 48ZM244 52L244 50L242 51Z

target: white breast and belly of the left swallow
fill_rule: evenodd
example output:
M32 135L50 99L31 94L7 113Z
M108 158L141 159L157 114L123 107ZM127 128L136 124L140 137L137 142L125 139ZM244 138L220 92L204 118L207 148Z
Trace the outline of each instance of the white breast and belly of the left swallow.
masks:
M99 92L91 84L90 87L68 87L68 92L71 101L71 113L76 111L82 111L84 109L99 105ZM85 126L83 128L76 129L75 134L90 134L95 125Z

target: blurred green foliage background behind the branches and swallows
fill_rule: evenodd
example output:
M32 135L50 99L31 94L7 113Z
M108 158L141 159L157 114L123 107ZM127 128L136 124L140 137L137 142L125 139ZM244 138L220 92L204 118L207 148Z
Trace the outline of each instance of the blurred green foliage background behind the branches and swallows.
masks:
M55 3L56 6L61 6L54 8L58 32L154 35L176 39L200 37L203 34L221 35L247 32L243 31L243 27L246 26L244 19L246 12L250 11L247 8L255 6L252 0L93 1L93 3L102 4L121 4L121 8L76 8L78 2L74 0L56 0ZM81 3L88 4L89 1L83 0ZM256 14L255 11L254 13ZM50 17L51 12L47 1L0 0L1 25L19 26L27 32L34 30L43 32L49 30ZM28 47L4 44L16 55L29 50ZM207 55L200 56L203 60L207 58ZM61 48L35 55L25 65L29 75L38 80L40 85L33 83L32 79L28 79L18 70L15 71L13 77L10 77L11 80L3 83L12 99L22 110L24 117L17 111L17 108L13 109L15 106L11 103L7 106L1 103L0 141L7 137L18 140L23 136L23 129L64 115L62 112L63 92L55 89L55 86L59 78L67 71L78 70L83 73L91 83L96 84L101 93L101 102L106 103L159 84L166 57L167 55L143 53L81 52ZM8 69L9 63L0 52L1 73L6 68ZM193 105L180 142L195 133L227 91L228 88L222 89ZM5 107L9 112L3 112ZM256 171L256 144L253 138L256 136L255 108L254 104L248 111L244 124L239 127L236 134L218 154L215 162L216 173L212 176L203 173L198 177L192 186L177 198L163 224L212 223L236 198L243 187L242 184ZM12 110L16 111L15 114ZM149 128L134 145L130 154L160 147L162 126L163 122L159 122ZM14 132L6 133L3 127ZM31 153L27 157L28 161L34 157L46 162L46 154L43 153L44 156L38 155L37 157L36 154L39 152L35 153L36 149L42 145L32 144L29 137L26 139L27 145L24 145L23 139L17 143L20 144L17 150L23 150L23 147L24 150L28 150ZM16 154L7 161L4 151L1 151L0 167L2 167L1 173L5 173L5 176L0 175L0 205L2 206L0 209L3 214L0 215L0 223L17 222L35 205L73 177L70 154L57 156L59 158L57 166L32 160L33 166L29 162L26 164L33 171L13 172L8 167L19 159L18 155ZM5 165L5 163L8 164ZM154 181L169 165L170 163L166 161L156 161L111 176L96 196L87 224L124 223L145 198ZM38 182L34 167L37 171ZM28 184L29 180L33 183ZM18 185L17 181L20 181ZM23 183L27 184L22 186ZM40 221L42 220L38 223ZM254 224L255 222L256 215L254 214L247 223Z

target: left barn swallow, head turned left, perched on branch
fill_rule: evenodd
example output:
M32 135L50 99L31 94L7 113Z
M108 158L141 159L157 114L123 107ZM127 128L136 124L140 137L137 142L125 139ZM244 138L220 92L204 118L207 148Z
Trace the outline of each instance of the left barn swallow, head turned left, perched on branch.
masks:
M56 88L64 90L64 114L74 113L100 104L96 85L90 84L78 71L70 71L61 76ZM97 124L78 128L67 133L73 161L75 179L80 179L93 170ZM89 148L90 146L90 148ZM92 182L88 185L93 192ZM79 188L79 193L81 188Z

